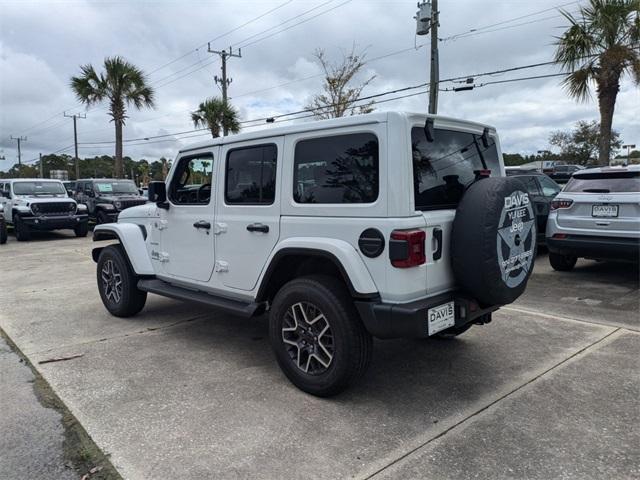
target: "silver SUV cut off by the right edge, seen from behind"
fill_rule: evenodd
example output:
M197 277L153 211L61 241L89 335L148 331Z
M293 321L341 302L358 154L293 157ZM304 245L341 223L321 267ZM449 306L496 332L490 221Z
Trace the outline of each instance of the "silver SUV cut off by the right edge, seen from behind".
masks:
M579 257L637 262L640 165L574 173L551 203L546 237L555 270L571 270Z

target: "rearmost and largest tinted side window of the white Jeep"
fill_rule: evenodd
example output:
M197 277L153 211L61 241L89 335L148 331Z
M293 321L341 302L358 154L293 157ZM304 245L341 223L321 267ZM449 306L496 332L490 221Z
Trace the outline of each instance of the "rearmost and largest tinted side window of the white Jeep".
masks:
M373 203L378 198L378 138L353 133L298 142L293 161L296 203Z

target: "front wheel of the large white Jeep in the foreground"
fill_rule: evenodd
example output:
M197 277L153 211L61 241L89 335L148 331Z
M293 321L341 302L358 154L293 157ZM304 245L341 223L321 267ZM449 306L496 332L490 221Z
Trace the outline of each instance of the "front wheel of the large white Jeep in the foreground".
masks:
M147 292L138 290L138 279L119 245L100 252L97 280L102 303L112 315L132 317L144 308Z

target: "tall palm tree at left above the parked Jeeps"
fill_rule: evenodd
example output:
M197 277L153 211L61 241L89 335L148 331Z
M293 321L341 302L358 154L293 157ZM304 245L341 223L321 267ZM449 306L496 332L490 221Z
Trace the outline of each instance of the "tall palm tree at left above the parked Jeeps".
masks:
M91 64L80 67L82 74L71 78L71 88L87 107L109 102L109 115L116 127L115 176L123 177L122 127L127 118L127 106L153 108L155 92L139 68L122 57L105 58L104 73L98 74Z

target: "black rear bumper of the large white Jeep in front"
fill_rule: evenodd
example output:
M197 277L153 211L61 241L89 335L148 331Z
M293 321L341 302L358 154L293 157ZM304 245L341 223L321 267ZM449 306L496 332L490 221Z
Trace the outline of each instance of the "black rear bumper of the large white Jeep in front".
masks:
M410 303L357 301L356 308L367 331L378 338L426 338L429 336L427 312L444 303L455 302L455 328L478 322L483 315L494 312L498 305L481 308L464 295L448 292Z

